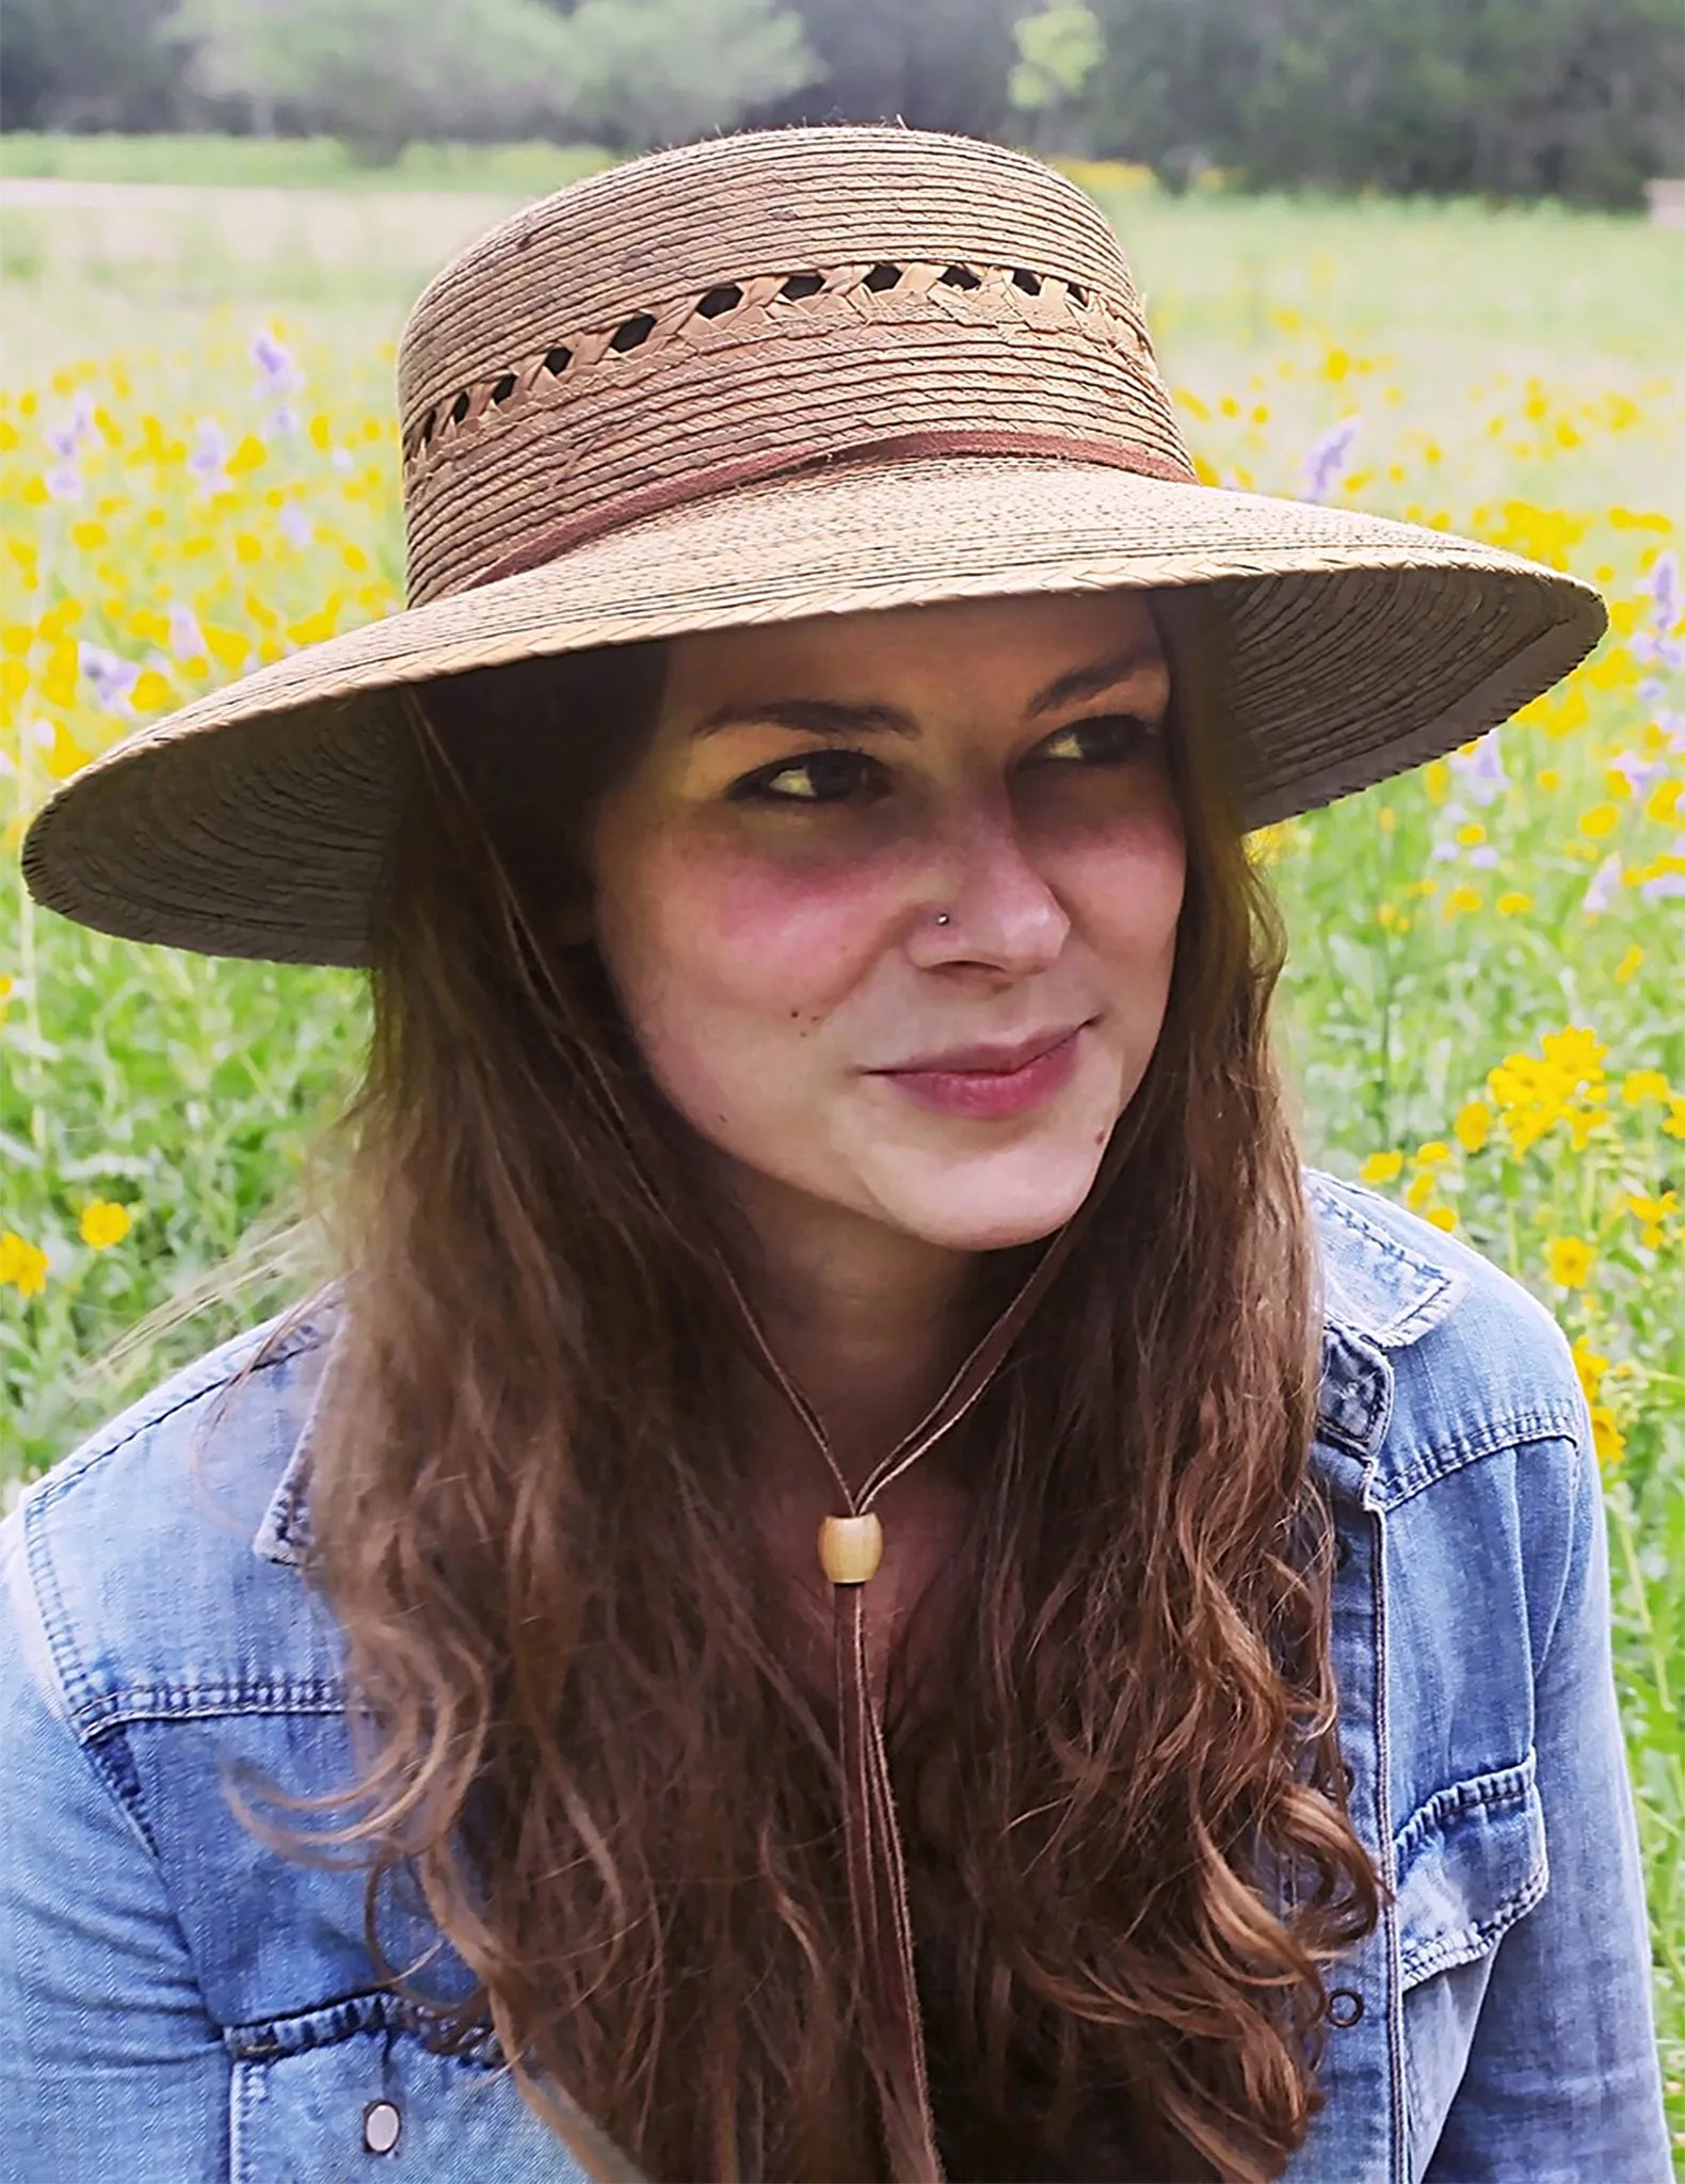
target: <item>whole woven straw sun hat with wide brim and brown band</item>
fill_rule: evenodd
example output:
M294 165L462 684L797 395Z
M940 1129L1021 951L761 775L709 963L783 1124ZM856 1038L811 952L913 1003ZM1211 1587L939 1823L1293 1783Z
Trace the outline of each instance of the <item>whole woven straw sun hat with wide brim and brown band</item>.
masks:
M918 601L1209 585L1248 826L1567 673L1598 594L1414 524L1198 483L1095 205L894 127L634 159L424 290L398 358L409 605L151 723L37 815L37 900L361 963L404 686Z

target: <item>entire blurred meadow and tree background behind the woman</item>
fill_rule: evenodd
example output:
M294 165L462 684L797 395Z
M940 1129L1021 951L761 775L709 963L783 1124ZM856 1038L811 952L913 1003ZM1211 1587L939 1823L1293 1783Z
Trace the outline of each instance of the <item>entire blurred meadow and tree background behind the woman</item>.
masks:
M402 598L393 341L514 205L905 120L1115 223L1206 480L1574 568L1591 660L1254 836L1307 1158L1525 1282L1609 1505L1685 2173L1685 15L1678 0L7 0L0 1505L313 1278L363 994L33 911L28 815Z

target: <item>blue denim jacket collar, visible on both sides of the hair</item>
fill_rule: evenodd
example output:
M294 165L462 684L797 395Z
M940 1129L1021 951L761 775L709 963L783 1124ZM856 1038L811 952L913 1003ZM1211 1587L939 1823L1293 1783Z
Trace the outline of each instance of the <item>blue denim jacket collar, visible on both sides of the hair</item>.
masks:
M1445 1319L1469 1278L1383 1227L1348 1184L1305 1168L1305 1195L1322 1271L1318 1444L1324 1465L1370 1507L1392 1417L1392 1356ZM299 1387L288 1400L288 1415L299 1420L297 1437L251 1540L251 1553L264 1562L297 1564L310 1538L310 1446L343 1324L341 1295L332 1289L310 1310L315 1354L299 1361ZM1353 1461L1357 1476L1351 1476Z

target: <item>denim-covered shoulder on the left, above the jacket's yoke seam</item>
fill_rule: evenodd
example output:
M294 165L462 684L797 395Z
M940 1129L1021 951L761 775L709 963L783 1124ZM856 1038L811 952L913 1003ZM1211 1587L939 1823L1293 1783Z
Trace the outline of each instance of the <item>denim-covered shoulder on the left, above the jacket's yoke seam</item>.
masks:
M297 1570L260 1553L304 1433L332 1302L238 1334L33 1481L0 1524L17 1642L81 1736L135 1704L321 1682Z

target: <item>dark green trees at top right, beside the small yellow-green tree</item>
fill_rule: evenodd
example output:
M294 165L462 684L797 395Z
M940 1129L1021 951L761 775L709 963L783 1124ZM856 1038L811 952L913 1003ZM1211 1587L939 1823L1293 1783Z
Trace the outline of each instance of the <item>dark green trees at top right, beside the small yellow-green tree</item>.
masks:
M1095 149L1180 183L1637 205L1678 173L1676 0L1095 0Z

